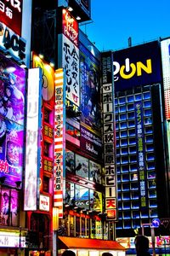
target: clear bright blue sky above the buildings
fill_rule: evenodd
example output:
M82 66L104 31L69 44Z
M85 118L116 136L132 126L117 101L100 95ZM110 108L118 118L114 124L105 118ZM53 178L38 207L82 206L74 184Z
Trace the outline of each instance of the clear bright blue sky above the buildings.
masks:
M80 26L99 50L170 37L170 0L91 0L91 21Z

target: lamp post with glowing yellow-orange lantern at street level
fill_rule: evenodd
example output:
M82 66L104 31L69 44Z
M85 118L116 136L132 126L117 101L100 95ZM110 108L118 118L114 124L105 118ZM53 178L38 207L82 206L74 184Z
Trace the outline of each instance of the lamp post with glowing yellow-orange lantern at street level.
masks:
M59 209L53 207L53 256L58 256Z

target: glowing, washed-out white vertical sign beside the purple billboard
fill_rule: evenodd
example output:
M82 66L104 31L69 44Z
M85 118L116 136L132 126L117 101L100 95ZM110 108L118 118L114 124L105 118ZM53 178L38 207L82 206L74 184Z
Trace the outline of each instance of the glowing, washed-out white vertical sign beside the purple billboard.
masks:
M40 68L28 71L26 120L26 174L24 210L37 210L37 172L40 168L41 84Z

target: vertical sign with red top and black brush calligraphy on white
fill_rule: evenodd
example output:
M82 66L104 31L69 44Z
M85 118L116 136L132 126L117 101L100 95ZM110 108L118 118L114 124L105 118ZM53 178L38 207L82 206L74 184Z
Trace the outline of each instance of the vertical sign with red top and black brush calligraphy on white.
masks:
M65 68L66 75L66 100L68 104L79 107L78 23L66 9L63 9L62 19L62 67Z

